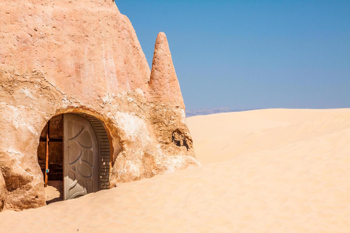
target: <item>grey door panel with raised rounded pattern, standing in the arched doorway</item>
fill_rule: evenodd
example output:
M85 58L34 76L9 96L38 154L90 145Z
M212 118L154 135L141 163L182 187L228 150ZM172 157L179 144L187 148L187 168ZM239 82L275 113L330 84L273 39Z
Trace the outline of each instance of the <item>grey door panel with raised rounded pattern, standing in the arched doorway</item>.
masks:
M89 121L63 115L64 200L98 191L99 146Z

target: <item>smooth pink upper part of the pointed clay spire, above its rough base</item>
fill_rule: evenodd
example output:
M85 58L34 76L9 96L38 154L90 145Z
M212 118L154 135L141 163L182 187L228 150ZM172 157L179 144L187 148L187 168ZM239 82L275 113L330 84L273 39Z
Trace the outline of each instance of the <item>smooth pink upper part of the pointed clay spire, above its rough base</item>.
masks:
M155 41L149 88L153 98L157 99L157 101L162 103L170 102L172 105L184 108L172 54L164 32L159 32Z

